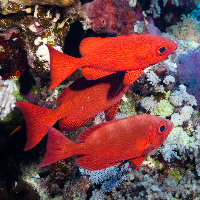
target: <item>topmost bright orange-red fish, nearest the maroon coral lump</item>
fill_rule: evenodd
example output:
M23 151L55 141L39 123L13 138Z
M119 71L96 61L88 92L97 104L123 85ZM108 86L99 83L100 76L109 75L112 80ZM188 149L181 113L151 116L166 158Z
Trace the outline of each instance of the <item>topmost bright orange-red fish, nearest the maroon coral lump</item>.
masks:
M127 71L124 84L128 85L135 80L138 74L136 69L144 69L165 60L176 47L174 41L151 34L85 38L79 46L83 56L81 58L65 55L48 46L51 68L49 89L60 84L79 67L88 80L108 76L116 71Z

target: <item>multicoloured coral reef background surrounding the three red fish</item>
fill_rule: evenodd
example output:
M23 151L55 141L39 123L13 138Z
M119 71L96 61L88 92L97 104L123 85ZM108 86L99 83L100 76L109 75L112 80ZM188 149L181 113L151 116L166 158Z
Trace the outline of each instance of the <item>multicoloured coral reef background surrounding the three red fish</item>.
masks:
M200 17L198 0L0 0L0 199L199 200ZM76 70L54 89L46 44L79 58L86 37L150 33L177 49L150 66L122 97L115 119L152 114L170 119L167 140L135 171L88 171L70 157L36 168L47 136L23 151L26 122L15 102L56 108L59 95L81 76ZM100 113L74 131L106 121ZM59 129L59 123L54 125ZM92 151L92 149L91 149Z

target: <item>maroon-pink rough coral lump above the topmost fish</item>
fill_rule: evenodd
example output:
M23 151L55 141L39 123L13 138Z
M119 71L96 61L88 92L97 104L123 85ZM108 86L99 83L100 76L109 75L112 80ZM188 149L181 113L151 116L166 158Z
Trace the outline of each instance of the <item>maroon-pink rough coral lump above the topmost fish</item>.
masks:
M85 4L84 8L92 21L93 31L113 35L132 34L136 16L128 1L95 0Z

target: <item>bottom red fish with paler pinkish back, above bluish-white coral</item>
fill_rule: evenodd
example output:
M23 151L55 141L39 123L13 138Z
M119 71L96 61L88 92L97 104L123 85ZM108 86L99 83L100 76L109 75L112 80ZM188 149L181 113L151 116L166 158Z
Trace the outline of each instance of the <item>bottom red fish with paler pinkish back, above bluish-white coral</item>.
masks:
M87 170L100 170L119 162L131 162L137 169L145 157L167 138L173 123L154 115L136 115L90 127L81 132L77 143L48 127L43 167L76 155L76 164Z

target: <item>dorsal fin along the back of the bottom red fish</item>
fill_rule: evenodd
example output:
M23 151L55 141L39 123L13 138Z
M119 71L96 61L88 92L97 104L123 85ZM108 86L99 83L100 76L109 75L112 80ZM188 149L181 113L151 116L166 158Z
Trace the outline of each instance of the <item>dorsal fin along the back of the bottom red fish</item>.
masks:
M102 128L103 126L106 126L107 124L108 123L103 123L103 124L98 124L90 128L87 128L86 130L84 130L83 132L79 134L79 136L77 137L76 143L85 143L88 137L90 137L90 135L92 135L97 129Z

